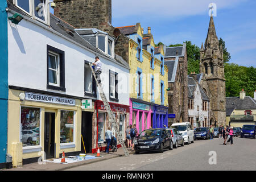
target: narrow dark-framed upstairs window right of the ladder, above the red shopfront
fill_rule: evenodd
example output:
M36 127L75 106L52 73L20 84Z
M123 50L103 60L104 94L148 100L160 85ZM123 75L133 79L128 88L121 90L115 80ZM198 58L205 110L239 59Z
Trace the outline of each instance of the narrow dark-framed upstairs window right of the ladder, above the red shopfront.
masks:
M109 100L118 102L118 73L109 71Z

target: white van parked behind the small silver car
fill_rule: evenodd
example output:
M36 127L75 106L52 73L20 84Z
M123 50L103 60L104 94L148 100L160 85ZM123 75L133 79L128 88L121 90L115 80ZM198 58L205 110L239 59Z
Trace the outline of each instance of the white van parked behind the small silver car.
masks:
M177 129L182 134L185 143L194 143L194 130L189 122L173 123L171 128Z

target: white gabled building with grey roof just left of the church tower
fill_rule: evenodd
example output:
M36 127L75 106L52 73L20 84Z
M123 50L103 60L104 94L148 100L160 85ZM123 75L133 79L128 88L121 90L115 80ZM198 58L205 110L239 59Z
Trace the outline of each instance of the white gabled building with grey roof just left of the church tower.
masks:
M188 119L193 127L209 127L209 101L198 82L188 76Z

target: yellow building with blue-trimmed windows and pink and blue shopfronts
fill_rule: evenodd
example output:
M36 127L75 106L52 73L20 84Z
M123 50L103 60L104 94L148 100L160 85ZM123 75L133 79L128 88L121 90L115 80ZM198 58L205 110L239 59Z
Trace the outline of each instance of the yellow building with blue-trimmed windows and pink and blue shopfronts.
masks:
M117 28L129 38L130 124L136 124L139 132L167 126L168 67L163 46L155 47L151 28L143 34L140 23Z

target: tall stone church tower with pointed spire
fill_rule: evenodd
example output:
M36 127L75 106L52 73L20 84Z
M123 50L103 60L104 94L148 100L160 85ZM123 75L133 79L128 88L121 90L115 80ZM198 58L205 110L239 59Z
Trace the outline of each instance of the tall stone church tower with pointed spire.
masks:
M200 73L204 79L200 85L210 97L210 124L225 125L226 123L226 85L224 78L223 50L218 42L213 16L210 17L205 44L200 51Z

